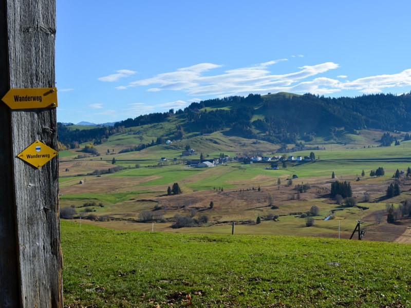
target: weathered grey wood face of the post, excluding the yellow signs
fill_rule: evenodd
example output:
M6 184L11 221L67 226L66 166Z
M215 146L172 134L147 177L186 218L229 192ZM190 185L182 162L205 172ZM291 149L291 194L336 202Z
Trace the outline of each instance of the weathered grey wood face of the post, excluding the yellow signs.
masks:
M0 1L7 8L9 88L54 87L55 0ZM9 114L20 306L62 307L58 159L38 169L16 157L36 140L57 149L56 110Z

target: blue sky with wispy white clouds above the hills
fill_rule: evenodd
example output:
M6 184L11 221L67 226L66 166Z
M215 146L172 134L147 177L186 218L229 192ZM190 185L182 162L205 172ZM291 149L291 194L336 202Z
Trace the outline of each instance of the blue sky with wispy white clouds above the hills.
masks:
M230 95L411 91L411 1L58 0L58 121Z

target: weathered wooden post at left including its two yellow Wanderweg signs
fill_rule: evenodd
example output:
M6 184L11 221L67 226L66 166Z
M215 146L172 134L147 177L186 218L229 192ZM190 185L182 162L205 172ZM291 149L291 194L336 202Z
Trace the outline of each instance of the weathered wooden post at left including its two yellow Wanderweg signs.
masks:
M55 30L55 0L0 0L2 308L63 307Z

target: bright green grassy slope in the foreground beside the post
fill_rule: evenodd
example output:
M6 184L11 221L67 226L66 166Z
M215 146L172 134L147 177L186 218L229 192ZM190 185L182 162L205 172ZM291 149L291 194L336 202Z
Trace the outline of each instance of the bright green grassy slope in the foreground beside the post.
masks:
M61 223L66 307L409 307L408 244Z

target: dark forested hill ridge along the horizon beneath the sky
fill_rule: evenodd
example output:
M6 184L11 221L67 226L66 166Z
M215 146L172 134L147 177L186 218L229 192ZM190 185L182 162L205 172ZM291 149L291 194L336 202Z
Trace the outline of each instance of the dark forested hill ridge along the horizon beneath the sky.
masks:
M108 129L89 129L85 139L104 140L109 134L127 127L175 121L172 136L180 139L184 132L211 133L226 130L245 138L262 139L272 143L294 143L312 136L331 137L338 128L355 132L359 129L386 131L411 130L411 94L371 94L356 98L326 98L318 95L276 93L249 94L192 103L177 111L150 113L127 119ZM177 124L178 123L178 124ZM94 132L96 137L93 138ZM68 144L85 137L76 130L59 125L59 140Z

